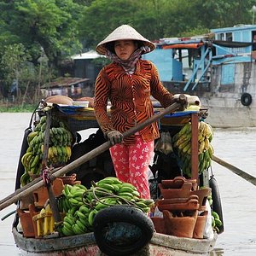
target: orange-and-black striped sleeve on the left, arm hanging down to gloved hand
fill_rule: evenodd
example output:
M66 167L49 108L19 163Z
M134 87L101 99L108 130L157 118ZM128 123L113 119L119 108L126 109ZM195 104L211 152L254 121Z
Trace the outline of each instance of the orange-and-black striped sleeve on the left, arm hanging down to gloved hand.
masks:
M98 124L103 133L114 130L111 119L108 116L108 96L110 93L110 81L104 69L98 74L95 84L94 110Z

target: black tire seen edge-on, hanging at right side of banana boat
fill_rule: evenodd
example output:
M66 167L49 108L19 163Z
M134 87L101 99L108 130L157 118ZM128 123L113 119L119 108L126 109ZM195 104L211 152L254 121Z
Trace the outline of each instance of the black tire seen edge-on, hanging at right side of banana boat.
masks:
M218 183L215 177L213 176L210 177L209 186L212 189L212 211L218 213L218 217L222 222L222 225L218 228L219 229L218 234L221 234L224 232L224 218L223 218L220 194L218 190Z

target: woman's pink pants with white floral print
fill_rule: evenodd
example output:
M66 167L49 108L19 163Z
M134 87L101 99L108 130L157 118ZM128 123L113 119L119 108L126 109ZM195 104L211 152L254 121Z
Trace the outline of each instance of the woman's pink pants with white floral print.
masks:
M133 184L143 199L149 199L148 165L154 154L154 141L144 143L137 135L135 144L115 144L109 150L119 180Z

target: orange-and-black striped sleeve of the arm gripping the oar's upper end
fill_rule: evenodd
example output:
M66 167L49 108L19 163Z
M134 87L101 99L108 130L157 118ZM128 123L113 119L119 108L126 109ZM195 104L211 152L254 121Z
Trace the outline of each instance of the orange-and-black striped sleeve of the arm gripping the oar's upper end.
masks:
M172 104L172 93L160 82L160 76L153 63L151 68L151 95L166 108Z

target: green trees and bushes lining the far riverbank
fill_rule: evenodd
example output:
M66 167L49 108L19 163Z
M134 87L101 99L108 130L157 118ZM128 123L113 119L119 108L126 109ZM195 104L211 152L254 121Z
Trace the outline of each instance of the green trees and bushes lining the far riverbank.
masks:
M251 24L253 3L0 0L0 103L11 102L17 108L35 104L42 98L42 84L59 76L73 76L72 55L95 49L122 24L133 26L152 41L189 37L211 28Z

